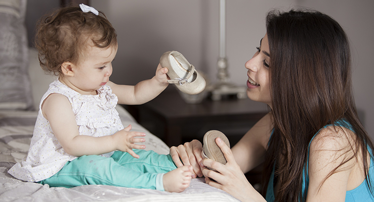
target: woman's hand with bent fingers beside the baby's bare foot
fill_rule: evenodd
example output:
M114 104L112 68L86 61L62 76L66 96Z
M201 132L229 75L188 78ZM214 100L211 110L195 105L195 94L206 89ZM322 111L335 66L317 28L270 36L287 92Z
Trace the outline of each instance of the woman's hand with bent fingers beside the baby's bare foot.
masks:
M178 168L184 165L191 165L194 172L192 178L196 178L197 176L202 177L202 168L204 167L201 164L201 151L201 142L194 139L183 145L172 146L170 148L170 155Z

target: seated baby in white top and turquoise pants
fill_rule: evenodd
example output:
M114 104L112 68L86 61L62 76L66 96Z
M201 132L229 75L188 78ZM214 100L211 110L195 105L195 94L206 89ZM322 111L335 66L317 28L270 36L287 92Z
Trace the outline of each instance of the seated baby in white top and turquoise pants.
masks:
M170 155L143 150L145 133L124 128L117 103L140 105L168 86L168 69L136 84L109 81L116 33L92 7L61 8L41 20L36 34L40 66L58 76L41 98L27 157L14 177L50 186L102 184L181 192L192 167L177 168ZM134 150L133 150L134 149Z

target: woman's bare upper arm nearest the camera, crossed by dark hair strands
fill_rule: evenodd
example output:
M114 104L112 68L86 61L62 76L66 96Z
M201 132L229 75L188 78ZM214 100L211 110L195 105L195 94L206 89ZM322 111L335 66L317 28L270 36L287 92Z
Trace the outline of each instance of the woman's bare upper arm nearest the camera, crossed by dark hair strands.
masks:
M345 201L346 191L365 179L359 166L362 158L350 159L354 156L354 133L345 128L336 129L322 129L310 144L307 201ZM331 172L334 174L330 175Z

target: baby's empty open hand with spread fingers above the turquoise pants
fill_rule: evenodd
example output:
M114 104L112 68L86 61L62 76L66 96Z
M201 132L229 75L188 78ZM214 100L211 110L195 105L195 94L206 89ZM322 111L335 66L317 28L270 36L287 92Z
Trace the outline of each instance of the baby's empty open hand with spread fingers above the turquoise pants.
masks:
M135 154L133 148L144 149L145 145L134 144L136 142L145 142L145 138L136 138L138 136L145 136L143 132L131 131L131 125L113 134L116 149L126 151L134 158L139 159L139 155Z

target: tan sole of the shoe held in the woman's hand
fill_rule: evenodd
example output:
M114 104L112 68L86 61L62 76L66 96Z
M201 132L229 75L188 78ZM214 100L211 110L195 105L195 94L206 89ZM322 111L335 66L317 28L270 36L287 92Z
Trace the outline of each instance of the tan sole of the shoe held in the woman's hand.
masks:
M221 138L222 141L224 141L230 148L229 139L227 139L225 134L218 130L210 130L206 132L203 137L202 156L207 159L217 161L221 164L226 164L227 161L225 156L222 153L221 148L216 144L217 137Z

